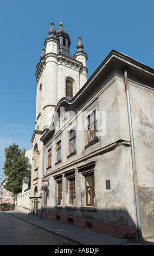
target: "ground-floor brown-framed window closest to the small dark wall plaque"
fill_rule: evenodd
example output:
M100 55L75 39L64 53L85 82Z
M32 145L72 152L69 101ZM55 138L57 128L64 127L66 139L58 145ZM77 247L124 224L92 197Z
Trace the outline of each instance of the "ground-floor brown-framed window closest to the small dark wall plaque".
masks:
M94 174L85 176L86 182L86 205L94 206Z

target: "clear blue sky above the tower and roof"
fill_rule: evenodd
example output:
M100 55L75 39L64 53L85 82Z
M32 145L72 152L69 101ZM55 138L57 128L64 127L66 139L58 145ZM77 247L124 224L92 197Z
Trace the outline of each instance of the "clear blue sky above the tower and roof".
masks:
M0 175L5 147L16 143L31 149L36 64L52 19L58 29L63 14L72 55L81 34L89 78L112 49L154 68L153 9L154 2L149 0L1 1Z

